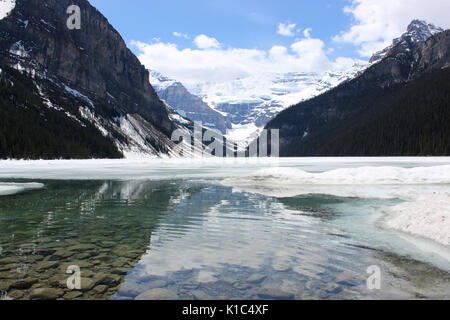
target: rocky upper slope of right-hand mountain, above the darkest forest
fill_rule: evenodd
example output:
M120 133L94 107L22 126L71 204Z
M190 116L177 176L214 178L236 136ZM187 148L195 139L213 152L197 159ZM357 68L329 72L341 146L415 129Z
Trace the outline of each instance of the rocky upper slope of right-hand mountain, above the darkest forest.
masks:
M415 24L413 21L408 30ZM340 129L358 123L388 96L427 73L448 67L450 30L425 38L414 38L414 49L394 41L397 46L386 50L389 53L361 75L280 113L267 128L280 129L282 153L284 149L290 150L290 155L315 155Z

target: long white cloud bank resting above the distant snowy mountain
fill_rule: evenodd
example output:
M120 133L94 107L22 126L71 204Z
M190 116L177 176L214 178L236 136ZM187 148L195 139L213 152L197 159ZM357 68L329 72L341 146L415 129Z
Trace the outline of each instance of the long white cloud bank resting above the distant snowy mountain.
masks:
M211 43L219 43L214 40ZM138 49L138 58L147 68L177 79L188 88L193 88L200 82L226 82L265 72L343 70L355 62L344 58L331 61L327 57L325 43L312 38L296 40L289 47L273 46L269 50L217 46L211 49L210 45L204 43L198 46L200 49L179 49L176 44L162 42L133 41L131 44Z

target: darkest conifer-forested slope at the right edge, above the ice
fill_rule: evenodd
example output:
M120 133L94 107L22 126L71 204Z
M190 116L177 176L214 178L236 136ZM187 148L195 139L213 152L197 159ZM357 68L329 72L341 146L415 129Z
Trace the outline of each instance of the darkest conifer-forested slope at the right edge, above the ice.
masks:
M319 138L322 142L316 144L314 154L448 156L449 123L450 69L438 69L387 95L376 108L331 135ZM303 148L294 145L291 152L295 155Z

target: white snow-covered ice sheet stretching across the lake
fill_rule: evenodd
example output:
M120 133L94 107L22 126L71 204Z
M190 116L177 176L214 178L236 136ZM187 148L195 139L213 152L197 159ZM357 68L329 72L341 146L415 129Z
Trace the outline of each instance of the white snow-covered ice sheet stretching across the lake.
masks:
M382 228L450 245L450 158L4 160L0 178L200 179L277 198L381 199Z

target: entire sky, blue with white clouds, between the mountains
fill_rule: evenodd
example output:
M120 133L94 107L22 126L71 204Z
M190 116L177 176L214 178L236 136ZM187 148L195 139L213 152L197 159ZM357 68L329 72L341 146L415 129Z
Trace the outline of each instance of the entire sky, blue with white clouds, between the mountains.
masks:
M413 19L450 27L448 0L90 0L148 68L182 81L345 70Z

